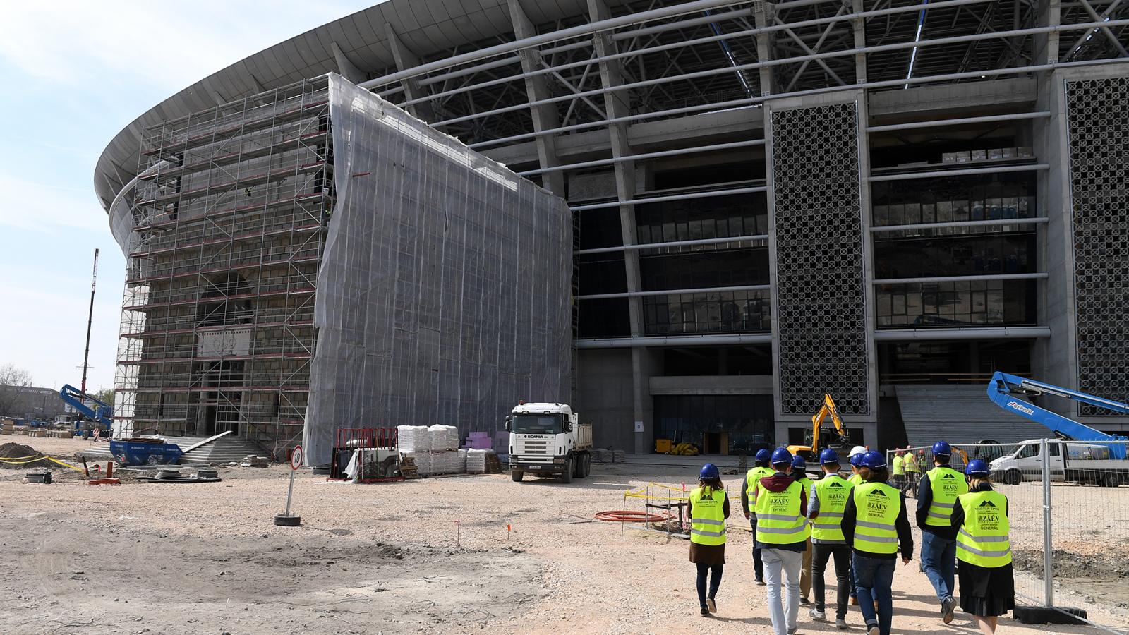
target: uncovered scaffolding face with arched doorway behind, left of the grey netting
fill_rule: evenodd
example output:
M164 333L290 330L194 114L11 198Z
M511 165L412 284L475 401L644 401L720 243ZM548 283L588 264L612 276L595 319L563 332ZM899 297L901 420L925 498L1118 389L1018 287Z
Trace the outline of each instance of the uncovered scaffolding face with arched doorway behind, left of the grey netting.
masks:
M143 131L115 376L120 435L301 435L334 205L325 77Z

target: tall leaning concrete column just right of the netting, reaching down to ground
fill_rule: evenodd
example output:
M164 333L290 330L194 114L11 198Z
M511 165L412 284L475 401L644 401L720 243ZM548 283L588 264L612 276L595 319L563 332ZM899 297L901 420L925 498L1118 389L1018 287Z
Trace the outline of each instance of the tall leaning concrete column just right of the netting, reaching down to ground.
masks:
M588 0L588 14L592 21L598 21L611 17L611 11L604 0ZM593 46L597 56L606 56L616 52L615 42L607 32L593 34ZM599 62L599 79L604 88L623 84L620 72L620 60L605 60ZM615 90L604 94L604 107L610 119L618 119L630 114L627 90ZM628 129L623 123L612 123L607 127L611 136L611 148L613 157L631 155L631 147L628 142ZM636 194L636 166L633 160L619 162L615 164L615 191L621 201L630 200ZM620 206L620 232L623 235L624 245L637 244L636 218L633 206ZM639 280L639 252L629 250L623 254L624 269L627 271L628 292L640 290ZM631 325L631 337L644 334L642 323L642 298L636 296L628 298L628 312ZM648 394L649 375L645 369L650 367L647 351L641 347L631 349L631 382L632 382L632 410L634 423L632 427L641 424L642 429L634 430L634 451L637 454L648 452L650 449L648 441L651 437L650 395Z

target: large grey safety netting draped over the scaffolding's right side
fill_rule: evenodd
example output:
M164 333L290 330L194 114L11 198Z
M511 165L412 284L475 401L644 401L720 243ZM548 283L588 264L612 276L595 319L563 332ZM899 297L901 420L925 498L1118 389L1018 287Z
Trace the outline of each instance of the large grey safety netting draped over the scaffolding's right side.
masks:
M317 276L304 443L338 427L501 429L570 385L572 223L560 198L338 75L338 199Z

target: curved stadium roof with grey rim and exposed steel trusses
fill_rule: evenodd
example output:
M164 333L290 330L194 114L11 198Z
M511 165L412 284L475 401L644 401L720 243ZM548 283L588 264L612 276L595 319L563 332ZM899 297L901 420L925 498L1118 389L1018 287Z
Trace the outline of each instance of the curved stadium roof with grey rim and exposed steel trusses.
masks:
M1058 33L1060 63L1112 62L1124 54L1129 3L1100 16L1110 20L1103 32L1082 26L1095 24L1088 7L1062 3L1060 21L1071 26ZM418 116L472 147L497 147L532 141L546 122L579 133L605 128L609 119L753 105L767 93L874 93L900 89L907 77L991 82L1030 75L1040 63L1047 68L1039 37L1049 27L1030 0L892 0L848 11L834 0L388 0L235 62L157 104L103 151L95 191L108 209L137 174L145 128L330 71L393 102L418 104ZM609 88L601 77L594 31L609 35L612 49L605 42L603 54L619 61L609 68L629 89ZM864 55L856 54L860 45ZM523 69L537 78L532 88ZM623 95L619 119L604 102L610 90ZM530 105L531 94L540 107Z

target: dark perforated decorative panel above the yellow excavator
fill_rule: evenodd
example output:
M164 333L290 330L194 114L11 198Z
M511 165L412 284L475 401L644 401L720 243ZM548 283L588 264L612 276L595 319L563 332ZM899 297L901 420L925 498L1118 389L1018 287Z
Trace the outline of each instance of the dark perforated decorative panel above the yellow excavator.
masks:
M869 415L856 104L772 113L780 411Z

